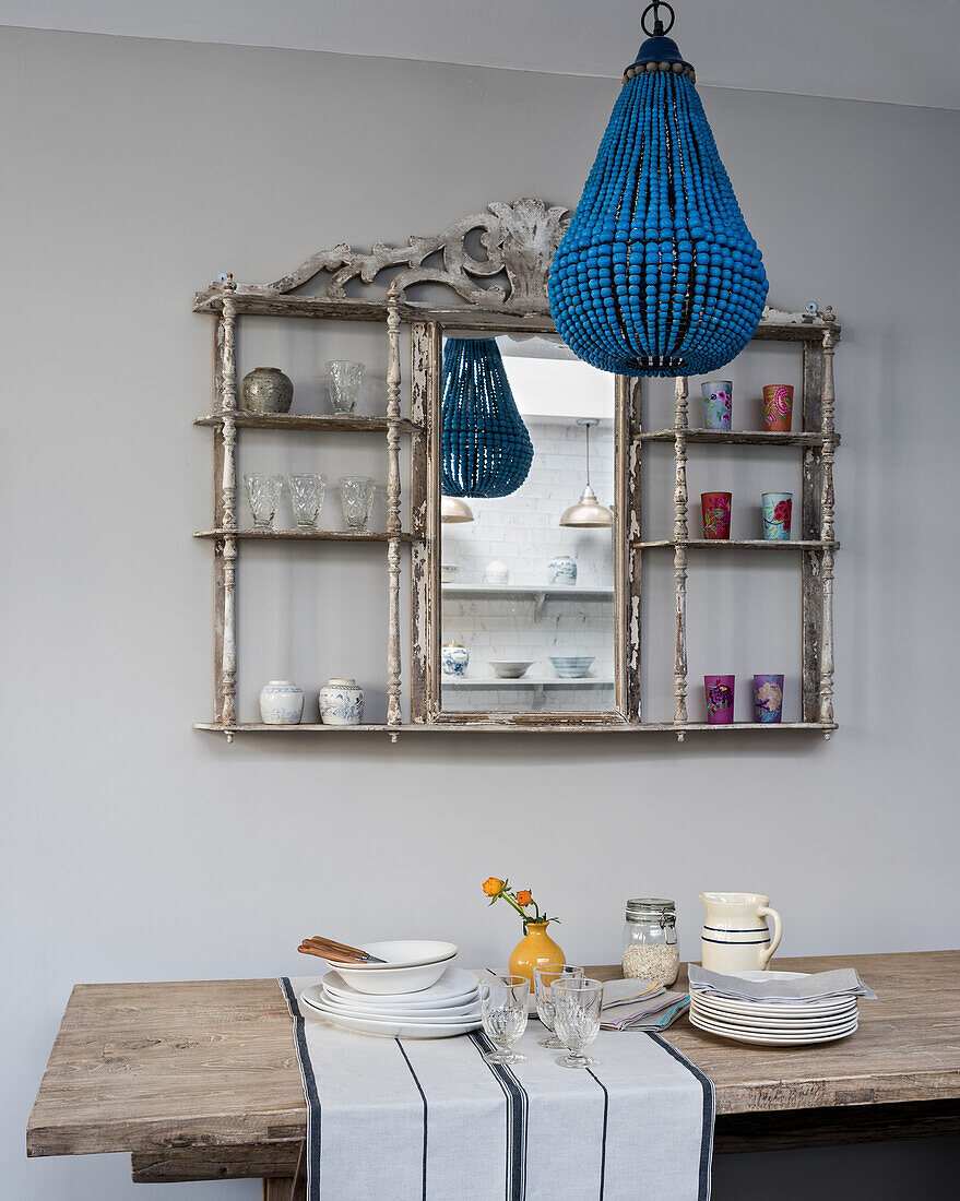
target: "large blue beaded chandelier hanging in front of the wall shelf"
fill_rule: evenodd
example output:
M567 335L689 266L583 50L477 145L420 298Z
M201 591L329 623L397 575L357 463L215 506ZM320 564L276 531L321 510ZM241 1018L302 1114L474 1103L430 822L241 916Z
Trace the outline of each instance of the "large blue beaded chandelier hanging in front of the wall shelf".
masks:
M660 8L669 10L663 28ZM654 14L652 30L646 28ZM564 341L602 371L716 371L753 336L767 273L717 155L693 67L646 6L624 84L548 286Z

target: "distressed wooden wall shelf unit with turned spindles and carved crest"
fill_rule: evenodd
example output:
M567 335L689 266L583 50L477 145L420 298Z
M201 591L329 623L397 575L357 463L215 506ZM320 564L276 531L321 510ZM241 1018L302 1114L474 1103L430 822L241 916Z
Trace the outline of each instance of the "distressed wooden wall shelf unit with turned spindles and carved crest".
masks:
M214 318L214 412L195 424L214 435L215 503L213 527L195 537L213 542L215 573L214 620L214 718L196 729L235 734L358 734L386 733L392 741L400 733L669 733L682 742L687 734L738 734L757 736L777 730L815 731L829 739L836 729L833 703L834 680L834 556L840 546L834 526L834 454L840 435L834 428L834 347L840 327L833 310L785 312L767 309L755 341L797 345L803 357L800 402L794 420L800 429L789 434L764 430L698 430L688 423L688 382L680 377L674 389L672 429L643 428L644 382L615 377L615 579L610 587L561 588L542 585L458 585L440 582L439 400L441 352L447 330L490 334L554 334L547 303L547 275L553 255L570 221L568 210L549 208L542 201L520 198L513 204L494 203L485 210L454 222L429 238L413 237L406 246L377 243L369 253L338 245L311 256L294 271L273 283L235 283L229 275L195 298L195 312ZM479 237L482 257L466 249ZM442 256L442 257L441 257ZM386 295L369 299L347 293L376 287L376 276L390 274ZM311 281L321 294L303 294ZM413 299L421 285L446 287L457 293L453 306ZM235 331L240 316L309 317L362 321L383 327L387 340L387 412L383 417L285 413L258 417L238 410ZM410 370L404 381L400 363L400 329L410 329ZM401 395L409 398L406 416ZM377 434L386 441L387 528L368 533L339 531L260 531L240 528L237 521L237 440L240 430L287 430L297 434ZM401 528L400 446L410 446L410 530ZM645 449L655 443L674 448L673 531L667 538L644 537L640 479ZM709 542L690 537L686 483L687 448L786 447L801 453L803 490L798 538L794 542L738 539ZM240 542L366 542L387 548L388 597L387 719L358 727L263 725L240 722L237 711L237 563ZM410 668L406 683L409 718L404 718L401 673L400 578L401 546L410 548ZM675 579L674 718L644 721L640 711L643 629L640 584L646 552L673 551ZM801 721L782 724L737 722L709 725L691 722L687 715L686 581L691 552L710 551L735 556L740 551L769 551L757 562L774 562L791 551L800 560L801 587ZM751 558L753 556L751 555ZM467 687L441 680L441 597L530 600L538 610L560 602L564 594L610 598L615 609L613 679L530 679L469 681L473 688L536 688L551 692L564 687L613 688L610 712L441 712L441 689Z

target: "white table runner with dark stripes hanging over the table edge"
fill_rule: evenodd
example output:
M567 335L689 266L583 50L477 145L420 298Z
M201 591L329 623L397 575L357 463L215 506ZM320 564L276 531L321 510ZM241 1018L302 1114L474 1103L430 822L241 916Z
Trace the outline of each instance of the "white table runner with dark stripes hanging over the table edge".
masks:
M308 1101L308 1201L706 1201L714 1086L666 1039L602 1030L585 1071L531 1021L511 1066L483 1030L341 1030L280 979Z

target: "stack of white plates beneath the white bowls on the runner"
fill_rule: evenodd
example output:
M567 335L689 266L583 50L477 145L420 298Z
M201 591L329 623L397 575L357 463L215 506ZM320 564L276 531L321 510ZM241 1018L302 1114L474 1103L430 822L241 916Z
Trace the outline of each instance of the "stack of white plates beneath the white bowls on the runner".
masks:
M477 978L455 967L429 988L393 994L358 992L329 972L300 1000L334 1026L388 1039L446 1039L481 1024Z

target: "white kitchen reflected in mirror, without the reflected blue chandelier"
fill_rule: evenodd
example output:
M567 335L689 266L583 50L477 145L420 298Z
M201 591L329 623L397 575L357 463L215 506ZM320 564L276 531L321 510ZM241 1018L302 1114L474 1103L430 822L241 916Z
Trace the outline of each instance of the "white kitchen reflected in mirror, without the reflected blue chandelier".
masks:
M461 336L477 335L446 335ZM464 504L472 515L440 525L441 712L612 712L615 377L574 358L555 335L487 336L495 336L533 461L508 496L441 498L441 515L465 518ZM583 506L588 438L596 501Z

